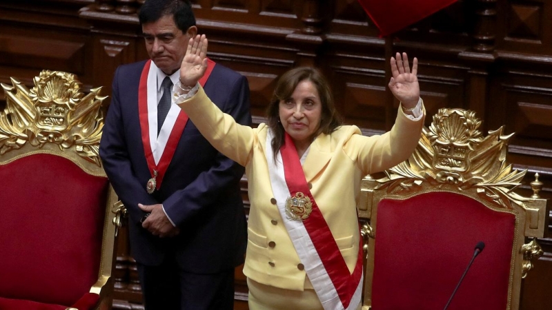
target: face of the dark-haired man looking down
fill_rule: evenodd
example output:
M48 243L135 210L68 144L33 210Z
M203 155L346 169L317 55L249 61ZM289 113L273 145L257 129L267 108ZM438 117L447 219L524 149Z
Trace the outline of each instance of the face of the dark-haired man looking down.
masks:
M172 15L165 15L158 21L142 25L142 33L150 59L165 74L170 75L180 68L188 40L195 37L197 28L192 26L186 33L182 33Z

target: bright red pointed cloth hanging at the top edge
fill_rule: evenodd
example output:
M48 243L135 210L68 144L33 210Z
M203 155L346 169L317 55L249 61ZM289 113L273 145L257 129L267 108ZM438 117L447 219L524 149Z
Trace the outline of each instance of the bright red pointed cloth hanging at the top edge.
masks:
M382 36L397 32L456 0L358 0Z

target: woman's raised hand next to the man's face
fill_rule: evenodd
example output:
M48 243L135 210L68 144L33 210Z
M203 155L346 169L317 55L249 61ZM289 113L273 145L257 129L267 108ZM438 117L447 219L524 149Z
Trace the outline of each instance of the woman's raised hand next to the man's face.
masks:
M195 86L207 70L207 43L205 34L197 34L188 41L186 55L180 65L180 83L183 86Z

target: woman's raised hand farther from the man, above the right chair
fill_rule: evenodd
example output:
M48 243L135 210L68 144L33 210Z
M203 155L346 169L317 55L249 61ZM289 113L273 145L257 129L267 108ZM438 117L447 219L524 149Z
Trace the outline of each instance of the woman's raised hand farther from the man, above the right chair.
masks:
M406 53L397 53L395 57L391 57L391 81L389 81L389 89L395 95L395 98L401 101L405 108L415 107L418 99L420 99L420 85L416 76L418 70L418 60L414 57L412 71L408 64L408 56Z

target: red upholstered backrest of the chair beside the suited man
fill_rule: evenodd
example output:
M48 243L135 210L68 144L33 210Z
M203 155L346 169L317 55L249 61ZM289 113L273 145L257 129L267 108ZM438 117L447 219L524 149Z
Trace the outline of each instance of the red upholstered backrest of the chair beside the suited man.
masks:
M98 279L107 178L34 154L0 180L0 296L74 304Z

